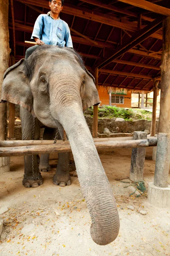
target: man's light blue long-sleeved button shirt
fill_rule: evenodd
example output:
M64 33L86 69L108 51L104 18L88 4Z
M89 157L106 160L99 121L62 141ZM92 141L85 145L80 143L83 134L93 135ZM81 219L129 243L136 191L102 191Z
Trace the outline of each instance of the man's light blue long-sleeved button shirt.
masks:
M60 47L72 47L70 29L68 24L61 19L54 20L50 12L41 14L37 17L31 40L39 38L45 44L58 45Z

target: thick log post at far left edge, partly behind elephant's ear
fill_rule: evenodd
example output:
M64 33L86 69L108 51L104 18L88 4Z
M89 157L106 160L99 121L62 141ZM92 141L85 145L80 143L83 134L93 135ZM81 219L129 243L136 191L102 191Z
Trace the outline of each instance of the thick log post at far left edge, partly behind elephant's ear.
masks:
M0 0L0 95L3 74L8 68L9 32L8 32L8 0ZM6 103L0 103L0 140L6 140ZM0 174L9 171L10 157L0 158Z

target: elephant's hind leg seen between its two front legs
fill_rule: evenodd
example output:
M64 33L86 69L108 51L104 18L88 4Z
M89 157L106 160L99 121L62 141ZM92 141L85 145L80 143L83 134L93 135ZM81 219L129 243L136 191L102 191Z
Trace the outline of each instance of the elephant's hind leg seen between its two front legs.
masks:
M43 140L53 140L56 134L56 129L45 127ZM39 170L41 172L50 172L51 166L49 165L50 154L42 154L40 156Z

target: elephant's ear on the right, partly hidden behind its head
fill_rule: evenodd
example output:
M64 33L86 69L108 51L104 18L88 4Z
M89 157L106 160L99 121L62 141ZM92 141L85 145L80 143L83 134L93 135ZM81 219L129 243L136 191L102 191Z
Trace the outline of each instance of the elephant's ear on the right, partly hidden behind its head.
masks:
M82 98L83 111L90 108L91 106L100 104L99 94L96 89L94 76L92 76L92 74L88 72L86 68L85 68L85 71L86 71L85 93Z

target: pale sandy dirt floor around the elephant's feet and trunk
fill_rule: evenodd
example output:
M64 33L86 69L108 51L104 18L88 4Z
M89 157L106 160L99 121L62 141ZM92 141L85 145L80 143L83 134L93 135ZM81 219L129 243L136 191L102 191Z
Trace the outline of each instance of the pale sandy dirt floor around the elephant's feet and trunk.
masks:
M55 186L52 169L42 173L42 186L26 189L22 185L23 157L11 157L11 172L0 176L0 208L9 208L1 215L4 227L0 256L170 255L170 208L151 206L147 193L129 196L130 188L124 188L128 183L121 182L128 181L130 156L130 149L100 154L120 217L119 236L106 246L91 239L91 218L77 177L71 177L71 186ZM155 162L151 157L152 148L147 148L146 183L154 177ZM50 163L56 165L56 155L51 155ZM141 209L147 215L141 215Z

